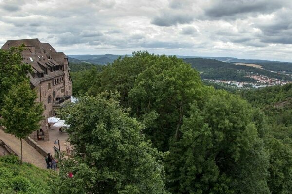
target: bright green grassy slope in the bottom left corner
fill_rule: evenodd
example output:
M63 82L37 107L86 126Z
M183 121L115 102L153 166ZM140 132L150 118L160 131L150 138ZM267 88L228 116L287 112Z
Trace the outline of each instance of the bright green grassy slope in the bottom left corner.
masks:
M55 172L42 170L26 163L11 162L13 156L0 157L1 194L47 194Z

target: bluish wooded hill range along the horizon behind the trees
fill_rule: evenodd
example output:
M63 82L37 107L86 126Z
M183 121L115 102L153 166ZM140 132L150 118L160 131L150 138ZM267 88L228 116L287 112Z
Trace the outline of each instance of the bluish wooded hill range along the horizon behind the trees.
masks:
M107 65L112 63L120 55L104 54L104 55L69 55L70 63L88 63ZM121 57L124 57L122 55ZM129 55L130 56L130 55ZM177 56L183 58L186 63L190 63L193 68L201 72L201 77L205 79L217 80L233 80L233 81L247 81L254 82L252 78L245 77L246 72L258 73L264 76L278 78L291 81L291 76L278 74L282 72L292 74L292 63L257 60L257 59L237 59L234 57L191 57L191 56ZM233 63L248 63L261 65L263 69L256 69L254 67L245 65L235 65ZM83 64L85 65L85 64ZM91 65L87 65L91 66ZM86 67L85 69L87 69ZM82 68L83 69L83 68ZM271 72L275 71L275 72Z

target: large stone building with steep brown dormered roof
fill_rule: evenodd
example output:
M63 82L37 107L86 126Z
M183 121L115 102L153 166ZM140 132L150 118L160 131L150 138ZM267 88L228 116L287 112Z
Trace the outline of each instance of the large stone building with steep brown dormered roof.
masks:
M43 139L49 140L47 118L55 115L55 109L71 100L72 81L68 58L63 52L57 52L49 43L41 43L38 39L8 40L1 49L18 47L24 44L23 63L31 64L33 73L29 74L31 87L37 92L37 102L44 106ZM39 131L31 134L37 141Z

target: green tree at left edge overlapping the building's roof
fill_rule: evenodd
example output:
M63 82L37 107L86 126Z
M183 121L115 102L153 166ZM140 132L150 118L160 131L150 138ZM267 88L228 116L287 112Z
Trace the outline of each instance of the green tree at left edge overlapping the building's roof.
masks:
M31 71L31 65L22 63L23 50L23 46L11 47L8 50L0 49L0 110L8 90L13 85L29 79L27 74Z

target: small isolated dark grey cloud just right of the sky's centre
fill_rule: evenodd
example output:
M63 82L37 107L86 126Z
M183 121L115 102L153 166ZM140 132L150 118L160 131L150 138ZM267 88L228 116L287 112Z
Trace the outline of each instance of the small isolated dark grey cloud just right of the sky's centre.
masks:
M185 13L173 13L164 11L160 16L156 16L152 19L151 23L157 26L172 26L177 24L186 24L194 20L193 16Z

